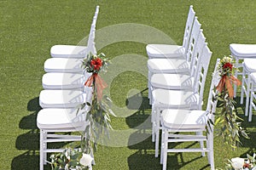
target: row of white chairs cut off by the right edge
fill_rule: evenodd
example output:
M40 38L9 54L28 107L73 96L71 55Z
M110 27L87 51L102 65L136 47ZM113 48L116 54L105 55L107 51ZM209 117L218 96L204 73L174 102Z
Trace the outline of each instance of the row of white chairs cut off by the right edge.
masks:
M256 44L230 44L231 55L235 57L236 72L235 76L242 75L241 83L241 99L240 103L243 104L244 95L246 95L245 116L248 116L248 122L252 121L253 116L253 96L255 92L255 74L256 72ZM239 61L242 61L241 63ZM242 72L239 73L238 69L241 68ZM234 88L234 96L236 97L236 85Z

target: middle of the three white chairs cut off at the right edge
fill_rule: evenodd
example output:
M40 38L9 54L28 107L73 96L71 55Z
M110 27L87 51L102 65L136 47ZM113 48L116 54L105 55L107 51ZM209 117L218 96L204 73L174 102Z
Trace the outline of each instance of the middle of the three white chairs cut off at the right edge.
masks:
M241 82L241 99L240 102L243 104L243 96L246 94L246 109L245 116L248 116L249 99L250 99L250 86L251 77L250 74L256 72L256 58L255 59L244 59L242 63L242 82Z

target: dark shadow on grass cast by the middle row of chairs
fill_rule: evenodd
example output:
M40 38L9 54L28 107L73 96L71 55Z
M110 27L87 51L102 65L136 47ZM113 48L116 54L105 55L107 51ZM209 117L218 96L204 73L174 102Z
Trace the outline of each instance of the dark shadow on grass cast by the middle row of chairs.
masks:
M132 133L128 142L128 147L131 150L137 150L135 154L128 157L128 166L129 169L140 169L140 170L148 170L148 169L162 169L160 164L160 156L154 156L154 143L152 142L151 136L151 106L149 105L148 97L143 94L147 89L143 90L139 94L135 94L127 99L126 105L127 108L135 109L132 105L136 105L138 98L143 98L141 105L138 107L138 111L131 116L126 117L126 123L129 127L137 129L136 133ZM130 105L129 104L129 102ZM181 143L172 144L171 147L176 147ZM187 145L187 148L193 147L197 143L192 143ZM184 153L186 154L186 153ZM201 159L202 156L193 156L193 158L189 161L184 161L183 153L175 153L168 155L167 166L172 167L172 169L179 169L189 164L190 162ZM179 161L178 161L179 160ZM201 167L201 169L208 169L209 165L205 167Z

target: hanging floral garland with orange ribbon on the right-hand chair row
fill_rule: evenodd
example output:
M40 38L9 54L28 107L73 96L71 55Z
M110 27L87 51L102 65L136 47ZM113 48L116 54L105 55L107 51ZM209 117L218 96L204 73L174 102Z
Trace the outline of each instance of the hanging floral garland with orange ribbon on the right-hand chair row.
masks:
M247 133L241 127L242 119L236 115L236 101L233 99L234 90L232 84L241 85L241 82L233 76L234 66L232 57L224 56L220 60L218 65L218 73L221 77L217 90L218 90L218 106L221 107L220 114L217 115L215 121L216 124L220 125L219 135L224 138L226 144L230 144L231 147L236 148L241 144L240 136L248 138Z

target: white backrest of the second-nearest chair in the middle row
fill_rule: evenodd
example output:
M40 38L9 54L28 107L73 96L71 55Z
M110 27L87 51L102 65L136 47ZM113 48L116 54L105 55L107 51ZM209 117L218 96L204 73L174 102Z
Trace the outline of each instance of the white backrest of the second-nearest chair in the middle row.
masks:
M200 66L198 68L198 73L195 76L195 93L199 94L199 110L201 110L201 105L203 103L203 94L205 88L205 82L207 80L207 71L208 66L210 64L210 60L212 57L212 52L207 47L207 43L205 44L202 55L199 59Z

